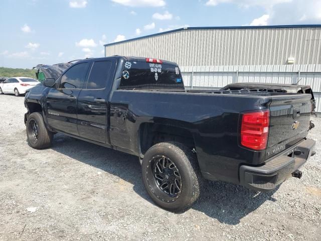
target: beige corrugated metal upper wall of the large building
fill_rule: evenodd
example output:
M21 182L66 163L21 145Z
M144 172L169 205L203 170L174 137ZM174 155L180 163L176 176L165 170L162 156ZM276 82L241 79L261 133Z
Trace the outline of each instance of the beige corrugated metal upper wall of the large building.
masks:
M105 50L106 56L153 57L180 66L286 66L288 57L295 64L321 64L321 28L186 29Z

